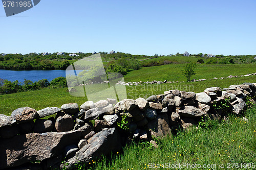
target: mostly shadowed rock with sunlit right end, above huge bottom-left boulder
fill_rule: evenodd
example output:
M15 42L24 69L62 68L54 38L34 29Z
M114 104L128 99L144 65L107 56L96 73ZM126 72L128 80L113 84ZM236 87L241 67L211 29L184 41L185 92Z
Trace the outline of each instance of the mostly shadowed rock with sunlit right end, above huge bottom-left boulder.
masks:
M53 130L53 127L54 127L54 124L52 120L36 119L34 132L35 133L51 132Z

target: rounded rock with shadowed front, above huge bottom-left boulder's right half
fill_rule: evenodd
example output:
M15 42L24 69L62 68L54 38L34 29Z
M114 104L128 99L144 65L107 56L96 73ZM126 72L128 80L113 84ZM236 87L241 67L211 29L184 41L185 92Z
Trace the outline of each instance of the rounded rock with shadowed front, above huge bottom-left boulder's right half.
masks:
M55 122L55 128L57 132L67 132L74 128L75 122L71 115L65 114L59 116Z

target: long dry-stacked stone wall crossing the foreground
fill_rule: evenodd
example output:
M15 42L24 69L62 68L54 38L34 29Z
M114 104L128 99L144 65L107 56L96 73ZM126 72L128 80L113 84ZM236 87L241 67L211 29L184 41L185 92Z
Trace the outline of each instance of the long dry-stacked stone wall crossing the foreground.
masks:
M0 114L0 169L72 168L119 151L129 139L157 147L152 136L187 129L202 118L243 113L247 96L255 96L255 85L211 87L200 93L169 90L147 99L88 101L80 107L69 103L39 111L18 108L11 116ZM224 108L218 108L221 103Z

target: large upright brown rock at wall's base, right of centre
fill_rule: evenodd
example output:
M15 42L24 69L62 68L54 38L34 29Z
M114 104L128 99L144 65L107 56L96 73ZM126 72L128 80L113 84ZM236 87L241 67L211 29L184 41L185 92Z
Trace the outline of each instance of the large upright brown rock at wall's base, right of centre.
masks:
M148 122L147 128L150 130L151 135L155 137L171 134L166 113L158 114L154 120Z

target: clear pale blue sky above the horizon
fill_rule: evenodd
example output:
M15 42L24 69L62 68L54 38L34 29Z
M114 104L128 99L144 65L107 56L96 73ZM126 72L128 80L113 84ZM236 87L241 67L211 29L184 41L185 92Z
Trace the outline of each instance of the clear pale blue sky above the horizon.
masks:
M256 54L255 0L41 0L0 23L0 53Z

